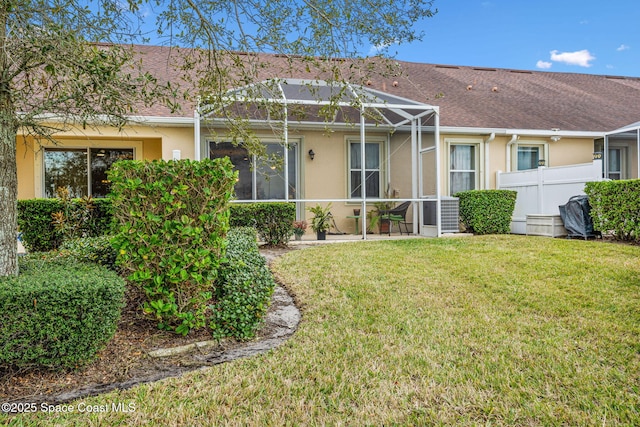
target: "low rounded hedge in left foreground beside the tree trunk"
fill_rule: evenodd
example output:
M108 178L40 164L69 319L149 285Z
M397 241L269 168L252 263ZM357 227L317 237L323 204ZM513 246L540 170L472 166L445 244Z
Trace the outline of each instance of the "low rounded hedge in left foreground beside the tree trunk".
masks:
M0 278L0 366L75 368L113 337L122 278L98 265L25 257Z

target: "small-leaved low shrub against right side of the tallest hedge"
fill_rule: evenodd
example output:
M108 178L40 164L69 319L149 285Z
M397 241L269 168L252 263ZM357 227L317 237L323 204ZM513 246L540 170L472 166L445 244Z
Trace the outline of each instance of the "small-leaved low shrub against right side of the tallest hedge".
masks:
M275 282L258 251L254 229L231 229L228 239L227 261L221 265L216 282L210 327L215 338L247 340L255 335L267 312Z

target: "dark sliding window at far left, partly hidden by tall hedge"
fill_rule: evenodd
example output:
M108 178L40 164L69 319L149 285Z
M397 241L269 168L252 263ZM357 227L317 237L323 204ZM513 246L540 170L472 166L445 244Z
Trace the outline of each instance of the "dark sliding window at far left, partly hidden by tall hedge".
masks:
M56 197L56 190L65 187L71 197L105 197L110 182L107 170L118 160L133 159L133 149L46 148L44 151L45 197Z

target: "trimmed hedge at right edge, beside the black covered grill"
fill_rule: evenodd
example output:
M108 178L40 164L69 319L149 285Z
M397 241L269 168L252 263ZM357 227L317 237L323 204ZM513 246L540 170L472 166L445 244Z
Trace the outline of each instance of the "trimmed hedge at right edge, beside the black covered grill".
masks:
M640 179L588 182L584 191L596 231L640 242Z

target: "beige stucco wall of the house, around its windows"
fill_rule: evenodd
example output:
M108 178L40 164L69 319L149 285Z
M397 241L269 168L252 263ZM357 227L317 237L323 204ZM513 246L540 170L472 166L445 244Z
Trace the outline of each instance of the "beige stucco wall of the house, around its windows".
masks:
M268 135L261 135L268 138ZM398 131L389 134L384 130L368 130L367 141L382 143L382 188L389 189L390 195L398 199L411 198L411 138L409 133ZM359 129L325 131L290 130L289 138L299 144L299 197L306 199L348 199L348 141L358 140ZM440 136L440 177L442 194L449 191L449 144L477 144L479 154L478 188L495 188L496 172L507 171L507 143L511 135L497 135L488 145L488 135L455 135ZM98 130L76 129L57 136L61 147L98 147L98 146L131 146L136 150L138 159L171 159L173 150L180 150L181 158L194 157L194 131L192 126L129 126L122 132L113 128ZM202 137L205 144L206 136ZM42 156L38 153L38 145L33 139L18 137L18 196L21 199L42 197L43 165ZM25 144L26 142L26 144ZM548 153L549 166L562 166L591 161L593 140L590 138L563 137L552 142L544 137L521 137L518 144L543 144ZM48 145L50 143L45 143ZM423 146L431 144L425 137ZM488 149L487 149L488 146ZM308 151L315 152L311 160ZM511 147L512 163L515 159L515 145ZM635 156L635 152L630 153ZM384 159L389 155L389 161ZM424 194L435 192L435 156L434 153L423 155ZM488 160L488 168L487 168ZM637 171L634 170L634 173ZM311 220L311 213L305 208L315 205L309 202L299 210L300 218ZM369 209L374 206L369 205ZM344 232L354 231L354 220L347 218L353 214L357 203L333 202L332 213L338 228ZM411 212L409 212L411 220Z

